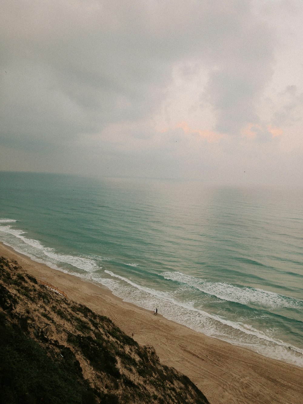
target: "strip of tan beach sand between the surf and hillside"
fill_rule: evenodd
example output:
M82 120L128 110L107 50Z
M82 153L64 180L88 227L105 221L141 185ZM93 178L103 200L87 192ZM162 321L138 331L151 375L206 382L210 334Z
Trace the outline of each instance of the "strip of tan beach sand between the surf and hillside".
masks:
M0 243L0 256L15 259L68 299L109 317L141 345L152 345L163 364L187 375L211 404L303 403L303 368L265 358L210 338L112 295L110 290L32 261Z

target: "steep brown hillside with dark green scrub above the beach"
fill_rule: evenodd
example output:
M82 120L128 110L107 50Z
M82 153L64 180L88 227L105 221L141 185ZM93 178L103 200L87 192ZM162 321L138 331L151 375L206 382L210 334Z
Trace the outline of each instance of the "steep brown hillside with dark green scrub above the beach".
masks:
M0 257L0 403L208 403L109 318Z

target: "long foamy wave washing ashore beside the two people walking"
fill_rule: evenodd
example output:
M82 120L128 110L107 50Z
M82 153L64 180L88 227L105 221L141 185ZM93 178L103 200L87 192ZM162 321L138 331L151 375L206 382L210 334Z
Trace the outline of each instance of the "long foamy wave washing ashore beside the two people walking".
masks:
M222 316L209 314L194 307L194 302L178 301L172 292L163 292L142 286L124 276L105 270L105 274L115 278L106 279L99 276L97 282L107 286L112 292L128 301L148 310L158 307L158 311L168 320L173 320L210 337L223 339L229 343L249 346L251 349L272 358L303 366L303 349L272 338L265 332L257 330L245 322L226 320ZM122 281L122 283L120 282ZM126 284L126 285L125 285Z

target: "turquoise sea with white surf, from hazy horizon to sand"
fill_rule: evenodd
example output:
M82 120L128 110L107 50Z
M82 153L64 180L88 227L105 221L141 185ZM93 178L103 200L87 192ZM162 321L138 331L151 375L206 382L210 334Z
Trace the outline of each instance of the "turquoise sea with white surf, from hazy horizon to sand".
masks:
M0 241L303 366L303 189L0 173Z

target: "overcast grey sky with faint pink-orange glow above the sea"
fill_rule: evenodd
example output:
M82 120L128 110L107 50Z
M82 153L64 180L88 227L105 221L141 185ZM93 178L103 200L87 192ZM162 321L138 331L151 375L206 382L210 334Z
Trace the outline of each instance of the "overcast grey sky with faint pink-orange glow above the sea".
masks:
M2 0L0 170L303 185L302 0Z

